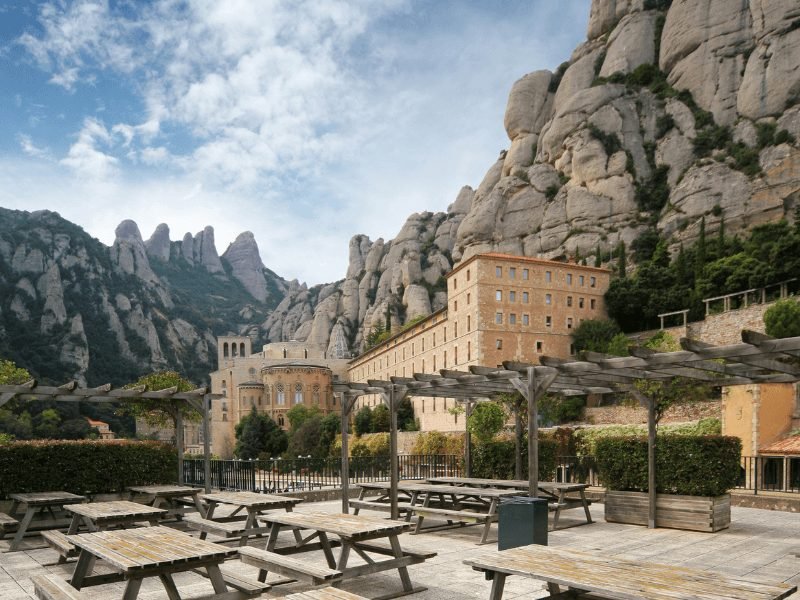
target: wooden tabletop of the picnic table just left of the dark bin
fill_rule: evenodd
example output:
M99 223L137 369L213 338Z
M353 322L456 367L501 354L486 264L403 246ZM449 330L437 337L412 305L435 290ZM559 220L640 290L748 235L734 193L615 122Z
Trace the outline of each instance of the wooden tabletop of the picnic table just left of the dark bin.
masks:
M358 538L374 535L397 535L411 529L406 521L393 521L380 517L364 515L345 515L341 513L291 512L270 513L259 518L268 523L280 523L303 529L333 533L343 538Z

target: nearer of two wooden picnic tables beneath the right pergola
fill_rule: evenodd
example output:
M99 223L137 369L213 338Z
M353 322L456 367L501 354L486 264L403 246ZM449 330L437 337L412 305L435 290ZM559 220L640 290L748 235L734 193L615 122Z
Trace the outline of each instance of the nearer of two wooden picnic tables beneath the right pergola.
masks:
M351 503L356 510L359 508L389 506L386 502L391 491L389 482L369 482L358 485L361 487L361 493L356 503ZM363 502L363 497L367 490L381 492L378 502ZM408 497L408 502L399 503L398 507L407 513L407 518L410 518L412 513L417 516L414 533L423 531L422 523L426 518L444 519L448 521L448 524L452 524L455 521L483 524L481 544L486 543L492 523L497 521L497 506L500 498L519 495L519 492L513 489L466 487L419 481L398 482L397 490L398 493ZM434 499L436 499L436 503L432 504ZM361 501L361 504L358 503L359 501ZM365 504L372 504L373 506Z

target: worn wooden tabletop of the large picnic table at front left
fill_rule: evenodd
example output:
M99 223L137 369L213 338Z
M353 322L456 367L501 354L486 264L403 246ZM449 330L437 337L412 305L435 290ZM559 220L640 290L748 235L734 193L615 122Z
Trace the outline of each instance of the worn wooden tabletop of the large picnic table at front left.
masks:
M69 540L125 574L175 563L222 561L237 552L235 548L212 544L168 527L80 533L70 536Z

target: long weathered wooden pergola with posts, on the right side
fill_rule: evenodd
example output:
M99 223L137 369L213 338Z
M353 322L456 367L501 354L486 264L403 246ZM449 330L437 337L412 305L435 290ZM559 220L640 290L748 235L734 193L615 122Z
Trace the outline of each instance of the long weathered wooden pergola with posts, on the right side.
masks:
M454 398L467 403L489 399L499 393L519 392L528 404L528 495L538 496L538 401L546 393L562 396L629 392L648 409L648 527L656 522L656 405L634 386L636 381L668 381L689 378L712 386L759 383L794 383L800 380L800 337L774 339L742 331L742 343L713 346L681 339L677 352L655 352L630 348L631 356L611 357L587 352L583 360L543 356L539 365L506 361L502 367L471 366L469 371L441 370L439 374L415 373L413 377L391 377L389 381L335 383L342 398L342 512L348 512L349 458L348 423L356 400L378 395L391 414L390 490L391 515L397 518L397 409L406 396ZM469 435L466 471L469 475ZM517 455L517 464L520 457Z

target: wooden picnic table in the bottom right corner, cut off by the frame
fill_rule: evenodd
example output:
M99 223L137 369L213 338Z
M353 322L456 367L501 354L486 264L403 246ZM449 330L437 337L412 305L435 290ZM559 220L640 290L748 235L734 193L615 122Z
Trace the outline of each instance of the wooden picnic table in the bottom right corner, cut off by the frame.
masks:
M530 545L485 551L464 561L492 580L490 600L501 600L509 575L547 582L551 597L611 600L779 600L796 586L766 584L708 571L607 554ZM569 590L562 592L561 586ZM569 595L568 594L572 594Z

